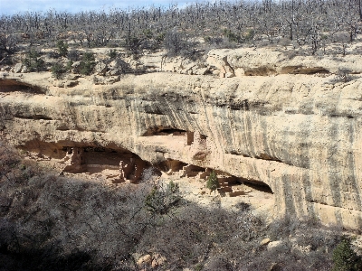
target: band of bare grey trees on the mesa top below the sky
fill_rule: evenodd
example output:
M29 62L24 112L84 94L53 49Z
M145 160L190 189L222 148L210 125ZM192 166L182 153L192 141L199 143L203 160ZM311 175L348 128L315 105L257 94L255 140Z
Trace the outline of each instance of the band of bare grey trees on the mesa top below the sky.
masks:
M74 47L84 48L123 44L136 55L163 45L170 55L185 51L189 55L194 42L206 36L208 44L197 44L198 50L207 50L211 41L217 41L213 42L217 47L231 47L273 45L288 39L297 51L308 46L312 55L333 53L326 45L334 43L345 55L360 32L360 17L359 0L221 1L185 8L33 12L0 17L0 52L6 57L26 42L40 48L57 44L60 55L66 56L67 41L72 41Z

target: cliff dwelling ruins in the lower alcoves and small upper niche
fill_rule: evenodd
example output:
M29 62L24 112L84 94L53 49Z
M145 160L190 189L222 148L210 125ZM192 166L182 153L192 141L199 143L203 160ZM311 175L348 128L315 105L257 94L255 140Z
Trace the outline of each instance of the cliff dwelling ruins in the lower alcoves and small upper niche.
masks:
M190 153L194 153L193 159L197 162L205 160L207 154L210 153L207 151L207 136L201 135L198 131L158 127L149 128L144 136L148 137L148 143L155 144L153 141L156 140L157 144L161 140L162 144L172 145L175 150L186 147ZM119 147L107 148L79 143L59 145L34 140L21 146L21 149L27 153L29 159L45 164L50 163L60 174L78 174L83 177L94 174L114 184L138 183L142 181L145 170L149 168L153 168L153 173L159 176L164 173L168 176L175 175L177 178L193 179L196 182L205 182L213 171L211 168L187 164L171 158L152 165L142 160L137 154ZM220 170L214 172L218 176L220 183L218 192L222 196L246 195L247 192L238 187L241 184L252 191L272 194L271 188L263 182L243 179Z

